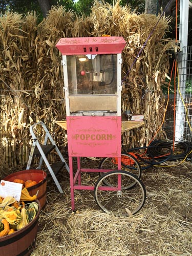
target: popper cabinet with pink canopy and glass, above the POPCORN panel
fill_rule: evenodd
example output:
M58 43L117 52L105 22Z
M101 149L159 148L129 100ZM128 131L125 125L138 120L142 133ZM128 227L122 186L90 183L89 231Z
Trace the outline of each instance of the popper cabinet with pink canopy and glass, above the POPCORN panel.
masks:
M73 47L72 47L73 46ZM121 115L122 37L61 38L67 116Z

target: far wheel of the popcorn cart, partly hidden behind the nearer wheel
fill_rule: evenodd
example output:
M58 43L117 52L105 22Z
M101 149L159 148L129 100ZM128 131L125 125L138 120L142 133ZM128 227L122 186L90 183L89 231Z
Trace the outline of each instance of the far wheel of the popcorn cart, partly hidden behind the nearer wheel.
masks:
M99 169L109 169L109 170L116 170L117 166L117 158L114 157L106 157L103 158L99 164ZM138 160L129 154L121 154L121 170L126 170L131 172L132 174L136 175L139 179L141 178L141 165ZM99 176L103 176L105 172L100 172ZM108 180L103 180L103 183L107 186L111 186L108 183ZM129 189L133 187L137 182L133 180L133 183L129 183L123 189Z

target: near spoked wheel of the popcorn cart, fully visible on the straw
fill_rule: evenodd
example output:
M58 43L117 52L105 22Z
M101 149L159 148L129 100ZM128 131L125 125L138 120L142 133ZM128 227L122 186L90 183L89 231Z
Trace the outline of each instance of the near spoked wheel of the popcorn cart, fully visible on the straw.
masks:
M117 187L119 180L121 180L121 190ZM111 185L108 186L106 183ZM131 189L123 189L133 183L136 185ZM124 170L112 170L97 180L94 197L103 211L113 212L115 216L130 216L143 207L146 191L136 175Z

